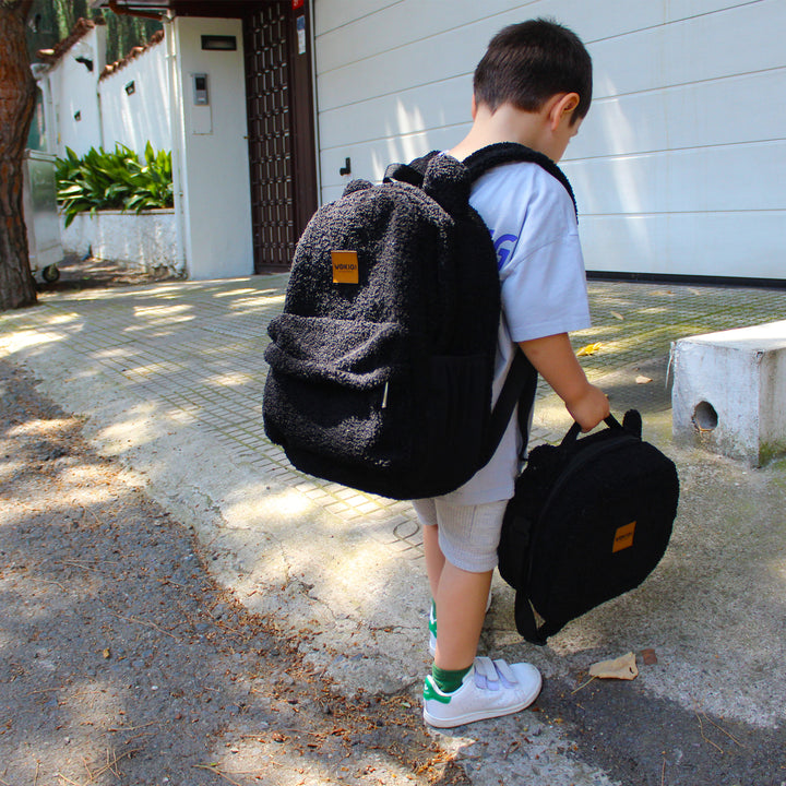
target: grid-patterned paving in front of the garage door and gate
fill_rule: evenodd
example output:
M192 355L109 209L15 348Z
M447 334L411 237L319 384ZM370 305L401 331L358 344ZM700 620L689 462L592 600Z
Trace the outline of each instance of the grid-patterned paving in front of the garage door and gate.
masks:
M420 538L407 503L382 500L305 477L262 427L266 327L284 302L286 275L228 282L167 282L121 291L45 295L38 308L0 318L5 357L60 344L91 373L131 400L158 402L176 420L199 424L265 477L297 488L347 521L364 519L391 548L419 557ZM670 406L672 341L786 315L786 291L671 284L591 282L593 327L572 335L582 365L621 412L645 415ZM594 347L593 345L598 345ZM652 379L636 383L636 378ZM553 396L538 388L547 410ZM533 442L556 441L565 420L536 416Z

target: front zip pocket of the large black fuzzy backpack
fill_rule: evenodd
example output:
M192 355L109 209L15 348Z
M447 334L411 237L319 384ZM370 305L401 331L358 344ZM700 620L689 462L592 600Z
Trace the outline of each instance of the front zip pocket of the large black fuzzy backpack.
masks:
M263 413L273 441L324 456L327 473L335 462L386 468L412 458L390 391L408 374L400 325L282 314L270 334Z

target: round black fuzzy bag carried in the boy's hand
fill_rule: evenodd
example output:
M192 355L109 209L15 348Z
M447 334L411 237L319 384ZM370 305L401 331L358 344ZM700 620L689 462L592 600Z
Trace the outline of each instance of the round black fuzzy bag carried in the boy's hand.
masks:
M634 409L622 425L559 445L538 445L519 476L499 546L499 571L515 591L522 636L548 636L639 586L663 558L677 515L674 462L641 438Z

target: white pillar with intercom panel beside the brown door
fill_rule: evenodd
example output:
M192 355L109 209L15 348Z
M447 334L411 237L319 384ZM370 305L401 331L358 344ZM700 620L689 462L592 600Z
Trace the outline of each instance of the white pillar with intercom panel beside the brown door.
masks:
M175 21L182 95L186 258L191 278L253 273L242 24ZM203 51L202 35L234 35L237 51ZM210 105L194 106L191 75L206 73Z

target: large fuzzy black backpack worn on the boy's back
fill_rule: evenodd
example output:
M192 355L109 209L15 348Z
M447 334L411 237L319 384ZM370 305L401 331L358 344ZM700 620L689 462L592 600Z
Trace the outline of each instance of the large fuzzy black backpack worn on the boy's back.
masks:
M406 499L479 468L500 287L467 167L429 155L398 170L353 181L306 228L270 325L264 420L302 471ZM332 251L357 252L357 284L334 283Z

